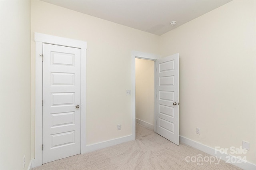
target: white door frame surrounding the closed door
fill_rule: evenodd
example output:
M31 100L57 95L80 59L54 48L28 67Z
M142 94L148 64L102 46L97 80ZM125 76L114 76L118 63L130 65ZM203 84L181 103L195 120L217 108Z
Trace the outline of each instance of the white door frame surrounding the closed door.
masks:
M81 154L86 152L86 48L87 42L34 33L35 41L35 159L33 167L42 165L42 53L43 43L81 49Z

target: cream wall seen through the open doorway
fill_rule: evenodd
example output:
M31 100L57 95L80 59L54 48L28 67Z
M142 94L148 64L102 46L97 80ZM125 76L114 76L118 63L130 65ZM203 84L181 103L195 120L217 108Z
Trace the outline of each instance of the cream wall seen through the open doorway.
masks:
M135 59L136 119L154 126L154 64L152 60Z

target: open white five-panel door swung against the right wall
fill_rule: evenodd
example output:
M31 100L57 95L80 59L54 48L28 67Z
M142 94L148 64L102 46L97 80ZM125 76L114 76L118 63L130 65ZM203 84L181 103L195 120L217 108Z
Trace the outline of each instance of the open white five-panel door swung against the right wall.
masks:
M179 54L156 60L156 133L179 145Z

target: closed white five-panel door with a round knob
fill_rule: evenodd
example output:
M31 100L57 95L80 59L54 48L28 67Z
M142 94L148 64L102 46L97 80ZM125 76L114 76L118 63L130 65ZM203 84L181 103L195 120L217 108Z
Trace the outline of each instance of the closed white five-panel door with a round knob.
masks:
M78 48L43 44L43 164L80 154L80 62Z

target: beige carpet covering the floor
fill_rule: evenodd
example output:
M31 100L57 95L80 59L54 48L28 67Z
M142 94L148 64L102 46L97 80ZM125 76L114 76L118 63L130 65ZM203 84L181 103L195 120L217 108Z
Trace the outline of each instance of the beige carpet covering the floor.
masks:
M197 159L200 156L206 161L192 162L194 158ZM210 162L208 158L213 161L215 157L186 144L180 143L177 146L154 131L136 124L136 140L134 141L50 162L33 170L240 169L222 160L216 159Z

